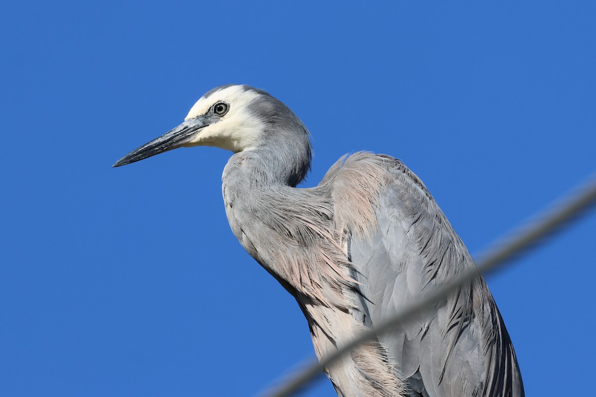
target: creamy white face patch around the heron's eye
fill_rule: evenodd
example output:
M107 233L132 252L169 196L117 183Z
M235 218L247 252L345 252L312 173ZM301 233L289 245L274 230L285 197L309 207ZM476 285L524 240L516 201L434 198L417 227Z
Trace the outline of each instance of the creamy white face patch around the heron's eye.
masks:
M206 114L218 102L226 102L228 112L216 123L204 127L184 146L215 146L234 153L254 148L263 131L263 121L247 110L260 94L242 86L230 86L202 97L184 120Z

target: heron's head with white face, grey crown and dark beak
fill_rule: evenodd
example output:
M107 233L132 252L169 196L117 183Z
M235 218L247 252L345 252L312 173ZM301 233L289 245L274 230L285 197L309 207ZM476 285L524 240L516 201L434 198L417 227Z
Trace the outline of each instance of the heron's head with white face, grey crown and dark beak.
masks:
M215 146L237 153L271 142L291 143L300 136L310 151L306 128L281 101L250 86L226 85L203 95L184 123L136 148L113 167L181 147Z

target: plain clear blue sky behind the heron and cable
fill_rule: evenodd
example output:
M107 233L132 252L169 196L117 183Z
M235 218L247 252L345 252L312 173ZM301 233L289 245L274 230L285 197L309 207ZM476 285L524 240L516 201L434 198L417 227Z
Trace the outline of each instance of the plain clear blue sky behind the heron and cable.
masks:
M0 7L0 395L254 395L313 356L229 230L229 152L111 168L246 83L347 152L401 158L472 254L596 166L594 2ZM589 395L596 214L488 278L529 396ZM334 395L325 380L308 396Z

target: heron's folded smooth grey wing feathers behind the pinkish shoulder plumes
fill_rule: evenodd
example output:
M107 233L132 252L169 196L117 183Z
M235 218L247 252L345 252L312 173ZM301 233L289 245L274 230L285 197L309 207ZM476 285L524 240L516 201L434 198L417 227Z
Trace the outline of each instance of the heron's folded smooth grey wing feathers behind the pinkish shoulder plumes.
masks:
M420 180L398 160L376 157L393 182L378 198L377 230L353 236L349 252L373 326L474 266ZM523 396L513 346L482 279L380 342L412 395Z

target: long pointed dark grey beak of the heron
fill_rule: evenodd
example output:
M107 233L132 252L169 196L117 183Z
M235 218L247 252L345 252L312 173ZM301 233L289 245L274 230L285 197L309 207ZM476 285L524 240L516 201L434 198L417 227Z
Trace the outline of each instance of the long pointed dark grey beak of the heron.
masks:
M207 120L198 117L185 121L175 129L166 132L157 139L152 140L145 145L136 148L134 151L127 154L125 157L116 161L112 167L120 167L120 165L131 164L131 162L143 160L145 158L167 152L172 149L179 148L185 145L188 141L203 127L208 126Z

